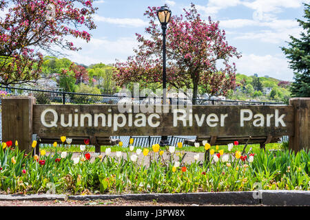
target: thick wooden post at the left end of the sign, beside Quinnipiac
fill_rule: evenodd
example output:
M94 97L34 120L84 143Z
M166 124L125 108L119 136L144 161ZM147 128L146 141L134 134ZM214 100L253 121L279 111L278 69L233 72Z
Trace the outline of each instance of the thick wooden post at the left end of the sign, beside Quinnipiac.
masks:
M32 107L34 97L5 97L2 99L2 141L15 140L19 149L32 151Z

